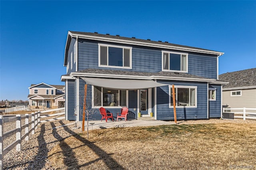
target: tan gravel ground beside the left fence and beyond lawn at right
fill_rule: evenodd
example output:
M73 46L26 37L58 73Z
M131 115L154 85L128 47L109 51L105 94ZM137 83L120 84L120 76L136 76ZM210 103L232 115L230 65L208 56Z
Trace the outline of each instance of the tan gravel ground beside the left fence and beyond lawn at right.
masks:
M43 119L41 119L43 120ZM17 152L16 148L13 148L8 154L4 156L4 169L5 170L55 170L51 166L48 160L48 152L57 144L60 140L72 136L72 134L80 133L81 129L75 128L75 124L62 126L64 124L72 123L68 120L58 120L53 122L41 123L35 131L35 134L29 135L29 140L23 140L21 143L21 151ZM256 124L256 120L184 120L178 121L178 124L210 124L210 123L250 123ZM4 128L11 130L15 128L14 124L6 123ZM54 128L54 129L53 129ZM14 139L13 139L14 138ZM4 140L6 144L14 142L15 136Z

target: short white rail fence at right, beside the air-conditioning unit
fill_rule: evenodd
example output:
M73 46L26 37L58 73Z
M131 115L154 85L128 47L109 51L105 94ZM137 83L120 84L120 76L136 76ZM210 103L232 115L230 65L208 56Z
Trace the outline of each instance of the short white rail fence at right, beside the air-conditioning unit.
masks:
M223 113L234 113L234 118L243 120L256 119L256 108L223 108Z

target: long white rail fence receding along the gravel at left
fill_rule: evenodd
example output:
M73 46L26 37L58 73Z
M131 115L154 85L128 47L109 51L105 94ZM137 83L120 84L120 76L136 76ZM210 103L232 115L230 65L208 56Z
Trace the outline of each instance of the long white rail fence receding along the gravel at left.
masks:
M64 110L64 108L58 108L58 109L53 109L53 110L45 110L43 111L43 113L46 112L52 112L52 111L56 111L56 110ZM21 141L22 140L28 140L28 135L34 134L35 130L37 129L37 126L42 123L42 122L48 122L48 121L52 121L52 120L60 120L60 119L64 119L65 116L63 117L59 117L56 118L60 115L65 114L65 112L61 112L61 113L56 113L56 114L48 114L48 115L44 115L41 116L40 114L42 114L42 112L32 112L31 114L25 114L24 116L21 116L20 114L17 114L16 116L9 116L9 117L4 117L4 116L0 116L0 170L3 169L4 167L4 155L7 154L8 152L10 152L10 150L12 150L12 148L14 148L16 146L16 151L20 151L21 150ZM52 117L54 116L52 119L49 120L40 120L40 118L46 118L46 117ZM29 118L31 118L31 121L29 122ZM25 124L22 125L21 120L25 119ZM4 132L4 123L7 122L14 122L16 121L16 129L10 130L8 132ZM25 129L24 134L22 135L22 130ZM9 146L7 146L6 148L4 148L4 139L12 136L16 134L16 140L10 144Z

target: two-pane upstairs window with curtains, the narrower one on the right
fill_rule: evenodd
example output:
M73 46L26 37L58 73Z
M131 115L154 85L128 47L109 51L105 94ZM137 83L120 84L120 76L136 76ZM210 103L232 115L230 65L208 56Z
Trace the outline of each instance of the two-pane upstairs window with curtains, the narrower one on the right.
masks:
M188 72L188 54L162 51L162 70Z

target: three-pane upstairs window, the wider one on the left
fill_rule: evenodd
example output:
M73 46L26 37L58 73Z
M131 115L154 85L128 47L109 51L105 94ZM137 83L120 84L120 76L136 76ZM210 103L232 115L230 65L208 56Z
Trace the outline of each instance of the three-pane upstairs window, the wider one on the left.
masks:
M99 66L132 68L132 48L99 44Z

